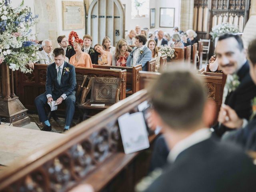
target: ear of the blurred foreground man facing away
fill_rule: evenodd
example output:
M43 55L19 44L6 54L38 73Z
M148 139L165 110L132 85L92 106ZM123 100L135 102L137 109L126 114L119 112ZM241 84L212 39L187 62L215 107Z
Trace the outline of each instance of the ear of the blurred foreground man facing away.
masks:
M216 103L214 100L207 99L204 105L203 122L207 127L212 126L216 117Z

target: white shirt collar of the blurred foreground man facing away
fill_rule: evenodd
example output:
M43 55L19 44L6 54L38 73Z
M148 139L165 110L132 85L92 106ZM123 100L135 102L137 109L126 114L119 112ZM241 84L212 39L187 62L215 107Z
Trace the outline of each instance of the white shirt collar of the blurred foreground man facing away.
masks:
M169 162L174 162L178 155L186 150L187 148L202 142L208 138L210 138L212 132L209 128L202 128L197 130L196 132L192 133L190 136L186 137L185 139L178 142L170 151L167 160Z

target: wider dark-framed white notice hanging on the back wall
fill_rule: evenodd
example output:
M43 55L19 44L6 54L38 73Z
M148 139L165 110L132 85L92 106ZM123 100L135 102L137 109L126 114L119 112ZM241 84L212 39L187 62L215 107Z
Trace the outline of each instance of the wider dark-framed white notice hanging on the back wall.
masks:
M160 27L174 27L175 8L160 8Z

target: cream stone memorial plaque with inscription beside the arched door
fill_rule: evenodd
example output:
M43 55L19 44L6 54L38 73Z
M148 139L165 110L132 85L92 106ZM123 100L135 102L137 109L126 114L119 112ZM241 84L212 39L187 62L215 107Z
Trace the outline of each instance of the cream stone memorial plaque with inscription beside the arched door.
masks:
M82 1L62 1L62 29L84 28L84 3Z

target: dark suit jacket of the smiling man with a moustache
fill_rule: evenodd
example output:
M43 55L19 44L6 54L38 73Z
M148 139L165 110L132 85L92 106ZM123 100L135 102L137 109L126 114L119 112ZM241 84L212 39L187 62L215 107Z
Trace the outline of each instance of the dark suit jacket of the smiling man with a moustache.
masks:
M256 86L252 82L252 78L249 72L248 61L237 72L240 84L236 90L230 92L225 100L225 104L230 106L236 111L236 114L240 118L249 119L252 114L251 100L256 96ZM215 133L221 136L226 130L229 130L224 125L216 124L214 127Z

